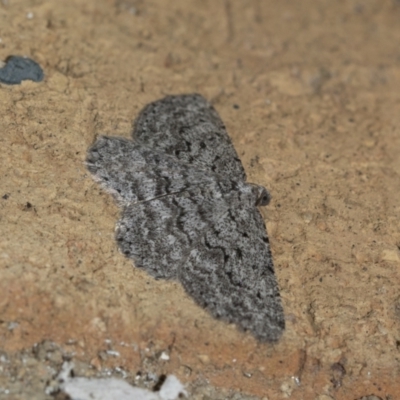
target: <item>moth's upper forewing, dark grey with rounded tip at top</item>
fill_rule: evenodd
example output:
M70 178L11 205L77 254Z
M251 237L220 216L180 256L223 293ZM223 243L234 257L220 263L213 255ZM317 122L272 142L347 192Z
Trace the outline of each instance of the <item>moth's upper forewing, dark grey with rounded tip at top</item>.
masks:
M199 94L167 96L147 105L134 123L133 139L173 155L187 168L246 180L224 123Z

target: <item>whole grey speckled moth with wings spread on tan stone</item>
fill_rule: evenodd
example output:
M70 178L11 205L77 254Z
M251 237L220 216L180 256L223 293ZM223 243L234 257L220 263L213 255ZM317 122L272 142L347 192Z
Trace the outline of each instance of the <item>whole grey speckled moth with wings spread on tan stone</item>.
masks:
M284 330L268 237L225 127L200 95L167 96L140 113L134 141L101 136L86 164L123 208L116 240L135 265L178 279L212 315L262 341Z

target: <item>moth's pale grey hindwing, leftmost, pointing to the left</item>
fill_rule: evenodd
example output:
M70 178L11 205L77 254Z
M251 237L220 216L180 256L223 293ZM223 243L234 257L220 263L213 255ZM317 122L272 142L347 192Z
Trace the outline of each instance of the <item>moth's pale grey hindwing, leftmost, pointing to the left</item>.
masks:
M119 137L100 136L88 151L86 165L122 205L213 181L202 171L188 171L174 157Z

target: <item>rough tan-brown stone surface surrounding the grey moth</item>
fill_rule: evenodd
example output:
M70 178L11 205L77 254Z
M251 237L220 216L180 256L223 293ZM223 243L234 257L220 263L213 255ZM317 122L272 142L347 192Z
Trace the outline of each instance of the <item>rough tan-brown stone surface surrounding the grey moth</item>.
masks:
M220 391L199 399L394 399L399 18L394 0L2 0L0 59L31 57L45 79L0 86L0 374L21 393L1 398L46 398L54 371L30 380L7 360L50 339L99 371ZM273 196L287 318L273 346L133 269L117 207L83 166L96 134L128 137L145 104L192 92Z

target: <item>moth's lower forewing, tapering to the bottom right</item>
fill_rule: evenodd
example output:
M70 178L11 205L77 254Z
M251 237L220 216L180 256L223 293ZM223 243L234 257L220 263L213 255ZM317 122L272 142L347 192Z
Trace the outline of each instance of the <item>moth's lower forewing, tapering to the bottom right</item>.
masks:
M186 291L214 317L276 341L285 321L264 221L234 201L179 270Z

